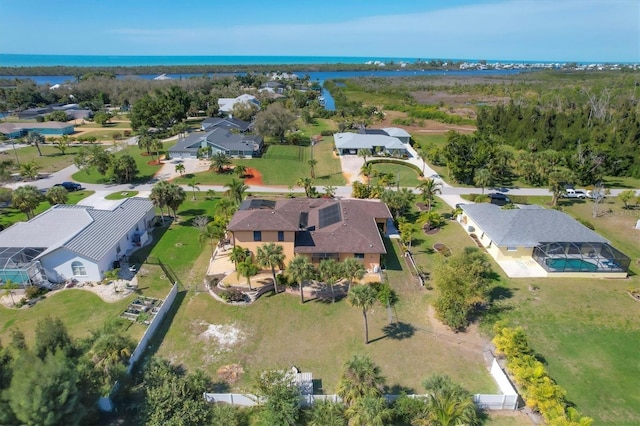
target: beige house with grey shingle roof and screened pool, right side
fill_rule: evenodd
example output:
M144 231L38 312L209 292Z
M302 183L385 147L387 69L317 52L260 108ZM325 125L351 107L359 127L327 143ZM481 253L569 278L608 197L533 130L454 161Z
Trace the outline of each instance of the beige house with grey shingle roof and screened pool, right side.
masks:
M508 262L533 260L547 277L626 278L630 259L607 239L558 210L528 207L463 204L458 222L507 273Z

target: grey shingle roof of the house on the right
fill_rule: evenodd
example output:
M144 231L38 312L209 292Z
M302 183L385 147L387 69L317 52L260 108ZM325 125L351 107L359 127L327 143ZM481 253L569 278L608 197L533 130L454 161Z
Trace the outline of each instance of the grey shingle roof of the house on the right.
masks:
M500 247L535 247L556 241L609 242L558 210L503 210L486 203L463 204L461 208Z

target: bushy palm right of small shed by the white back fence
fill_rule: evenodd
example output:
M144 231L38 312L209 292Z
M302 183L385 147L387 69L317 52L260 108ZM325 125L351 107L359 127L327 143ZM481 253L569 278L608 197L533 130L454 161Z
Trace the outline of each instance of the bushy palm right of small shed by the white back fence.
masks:
M366 396L381 396L383 385L380 367L367 355L354 355L344 364L336 393L345 404L351 405Z

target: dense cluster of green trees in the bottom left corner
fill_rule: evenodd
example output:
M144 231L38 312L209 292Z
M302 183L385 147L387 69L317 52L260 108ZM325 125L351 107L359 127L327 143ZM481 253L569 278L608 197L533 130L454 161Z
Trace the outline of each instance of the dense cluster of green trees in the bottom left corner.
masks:
M0 424L95 423L98 397L123 378L134 347L115 323L76 340L62 321L47 317L31 345L14 330L0 346Z

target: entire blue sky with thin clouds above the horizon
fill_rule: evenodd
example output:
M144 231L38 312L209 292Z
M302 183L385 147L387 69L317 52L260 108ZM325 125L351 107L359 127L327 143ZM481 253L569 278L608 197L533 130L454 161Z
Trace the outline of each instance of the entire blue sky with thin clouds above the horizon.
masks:
M640 62L638 0L0 0L0 53Z

